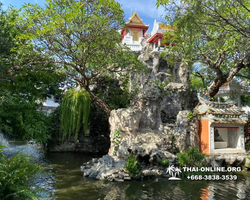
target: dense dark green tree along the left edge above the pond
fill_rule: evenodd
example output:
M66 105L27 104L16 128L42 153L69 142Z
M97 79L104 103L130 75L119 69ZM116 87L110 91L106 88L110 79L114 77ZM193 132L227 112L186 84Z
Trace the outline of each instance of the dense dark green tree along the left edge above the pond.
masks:
M0 131L20 139L45 142L46 118L37 109L41 100L59 93L59 83L65 76L55 73L55 65L37 65L28 62L31 54L19 59L18 26L19 13L14 8L6 11L0 7ZM30 45L30 44L29 44ZM41 53L34 52L37 61L44 60ZM40 101L38 101L40 100Z

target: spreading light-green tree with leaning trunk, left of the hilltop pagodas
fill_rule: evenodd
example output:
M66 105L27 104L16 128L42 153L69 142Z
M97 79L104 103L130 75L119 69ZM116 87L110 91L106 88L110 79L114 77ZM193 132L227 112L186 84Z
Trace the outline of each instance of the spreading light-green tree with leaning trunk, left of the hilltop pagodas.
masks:
M47 63L56 63L109 115L108 104L91 91L92 79L101 74L123 76L140 65L121 45L118 30L125 25L123 18L114 0L47 0L45 8L26 4L21 17L26 31L20 41L31 41L34 51L43 52Z

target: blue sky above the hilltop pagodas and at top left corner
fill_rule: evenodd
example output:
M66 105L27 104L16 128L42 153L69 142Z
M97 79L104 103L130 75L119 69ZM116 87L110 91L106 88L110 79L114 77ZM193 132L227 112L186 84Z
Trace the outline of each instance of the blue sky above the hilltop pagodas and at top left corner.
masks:
M149 31L153 28L154 20L163 21L162 14L163 8L156 9L155 3L156 0L116 0L122 5L122 8L125 12L125 20L128 21L128 18L131 15L131 8L133 13L135 9L137 14L143 19L143 23L150 25ZM45 0L0 0L4 4L3 8L6 9L9 5L13 5L16 8L20 8L24 3L32 3L43 5Z

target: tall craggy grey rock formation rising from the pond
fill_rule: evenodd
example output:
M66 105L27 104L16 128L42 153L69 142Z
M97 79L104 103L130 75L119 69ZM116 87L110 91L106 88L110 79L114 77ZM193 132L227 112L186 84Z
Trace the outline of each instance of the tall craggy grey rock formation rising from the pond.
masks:
M151 44L145 40L142 44L138 59L146 70L130 74L131 107L111 111L109 155L94 160L90 169L84 165L81 171L86 176L130 180L123 168L131 153L145 166L161 159L175 165L176 153L199 147L197 119L187 117L198 102L190 92L188 66L171 66L160 52L152 51ZM143 171L144 176L159 174L160 169Z

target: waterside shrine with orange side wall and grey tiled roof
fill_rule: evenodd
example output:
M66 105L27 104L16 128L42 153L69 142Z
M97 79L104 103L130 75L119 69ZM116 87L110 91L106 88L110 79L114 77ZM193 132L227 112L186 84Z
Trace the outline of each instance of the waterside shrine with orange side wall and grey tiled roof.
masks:
M205 154L244 153L247 116L234 103L213 102L201 93L195 113L199 118L200 150Z

